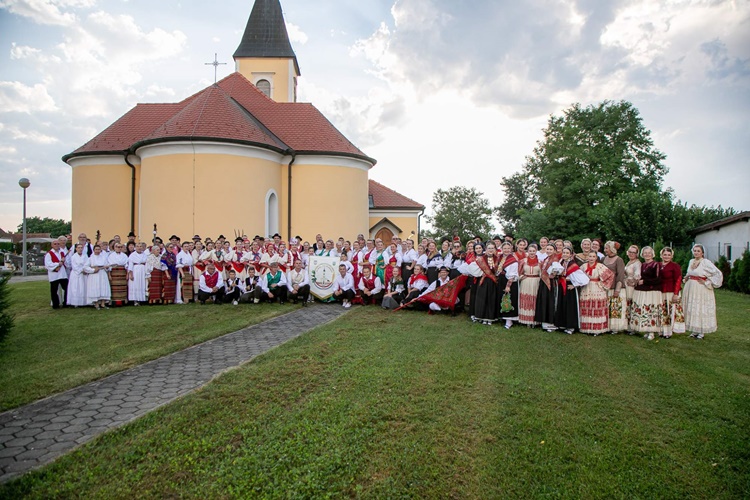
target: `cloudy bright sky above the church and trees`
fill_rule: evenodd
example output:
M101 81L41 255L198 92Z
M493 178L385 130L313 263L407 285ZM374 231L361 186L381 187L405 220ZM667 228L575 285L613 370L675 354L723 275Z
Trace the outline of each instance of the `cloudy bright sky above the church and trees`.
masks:
M0 228L70 219L60 157L139 102L233 71L252 0L0 0ZM689 204L750 210L747 0L282 0L315 104L378 160L371 178L430 207L493 205L552 113L629 100ZM101 193L106 207L106 190Z

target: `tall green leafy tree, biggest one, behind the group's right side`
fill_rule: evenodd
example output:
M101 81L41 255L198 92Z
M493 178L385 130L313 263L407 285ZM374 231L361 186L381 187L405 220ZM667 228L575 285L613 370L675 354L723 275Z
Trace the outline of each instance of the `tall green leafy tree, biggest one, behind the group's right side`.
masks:
M543 133L520 174L501 181L506 203L522 205L515 214L501 205L498 216L506 227L571 238L591 235L601 232L598 210L609 200L661 191L666 155L627 101L574 104L561 116L550 116Z

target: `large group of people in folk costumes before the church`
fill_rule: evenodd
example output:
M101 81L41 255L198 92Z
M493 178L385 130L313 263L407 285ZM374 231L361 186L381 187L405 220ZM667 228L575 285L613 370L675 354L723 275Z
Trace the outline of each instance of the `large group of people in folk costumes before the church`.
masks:
M286 242L278 234L238 236L234 242L223 235L216 241L173 235L168 242L155 237L147 246L132 233L127 242L115 236L95 243L82 233L72 248L66 243L61 237L45 256L53 308L193 301L306 305L313 300L308 264L318 255L340 261L328 300L347 308L464 310L474 322L501 322L505 328L519 323L550 332L627 332L648 339L689 331L703 338L716 331L713 288L722 284L701 245L693 247L683 277L669 247L657 262L653 248L633 245L626 262L617 242L602 245L588 238L580 252L570 241L543 237L529 243L508 236L476 238L465 247L458 238L438 245L394 237L384 245L362 234L352 241L318 234L313 244L299 237ZM457 281L451 290L461 286L449 303L445 294L429 299L452 280Z

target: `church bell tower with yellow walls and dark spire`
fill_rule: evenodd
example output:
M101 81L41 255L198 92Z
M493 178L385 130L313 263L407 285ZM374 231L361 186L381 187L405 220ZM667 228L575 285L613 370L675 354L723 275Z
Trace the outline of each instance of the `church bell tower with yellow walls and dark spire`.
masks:
M289 42L279 0L255 0L239 47L235 71L276 102L297 102L297 56Z

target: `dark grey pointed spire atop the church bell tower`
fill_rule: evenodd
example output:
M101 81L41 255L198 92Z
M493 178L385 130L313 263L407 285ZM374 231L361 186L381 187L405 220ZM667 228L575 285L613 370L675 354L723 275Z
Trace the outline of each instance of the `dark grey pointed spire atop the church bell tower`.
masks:
M242 41L233 57L291 57L297 74L300 73L279 0L255 0Z

